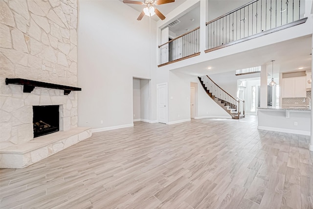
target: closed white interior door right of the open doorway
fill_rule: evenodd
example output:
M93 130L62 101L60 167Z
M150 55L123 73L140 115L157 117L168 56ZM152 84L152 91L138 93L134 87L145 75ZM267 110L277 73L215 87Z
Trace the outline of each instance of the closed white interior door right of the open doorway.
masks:
M167 83L157 84L157 119L159 123L167 123Z

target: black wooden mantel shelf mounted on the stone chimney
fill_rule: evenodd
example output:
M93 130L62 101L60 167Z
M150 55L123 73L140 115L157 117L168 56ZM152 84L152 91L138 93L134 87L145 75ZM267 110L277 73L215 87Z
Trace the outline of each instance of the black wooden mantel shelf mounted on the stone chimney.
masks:
M23 86L23 93L31 93L35 87L60 89L64 90L64 95L68 95L71 91L82 91L82 88L63 86L59 84L45 83L41 81L33 81L22 78L5 78L5 84L17 84Z

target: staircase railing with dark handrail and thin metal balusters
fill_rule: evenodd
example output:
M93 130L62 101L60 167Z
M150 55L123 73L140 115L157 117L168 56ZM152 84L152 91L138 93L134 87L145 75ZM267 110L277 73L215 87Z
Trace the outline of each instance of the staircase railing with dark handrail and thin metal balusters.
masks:
M245 115L245 100L240 98L235 99L217 85L209 76L203 75L200 77L208 93L212 93L215 98L221 100L222 103L226 103L226 106L229 106L230 109L236 109L237 116Z

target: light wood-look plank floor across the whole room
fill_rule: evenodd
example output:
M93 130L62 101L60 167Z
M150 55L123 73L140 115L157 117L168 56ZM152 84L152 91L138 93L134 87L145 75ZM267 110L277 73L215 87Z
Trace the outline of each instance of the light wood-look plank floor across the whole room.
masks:
M10 209L313 209L308 136L257 117L135 122L23 169L0 169Z

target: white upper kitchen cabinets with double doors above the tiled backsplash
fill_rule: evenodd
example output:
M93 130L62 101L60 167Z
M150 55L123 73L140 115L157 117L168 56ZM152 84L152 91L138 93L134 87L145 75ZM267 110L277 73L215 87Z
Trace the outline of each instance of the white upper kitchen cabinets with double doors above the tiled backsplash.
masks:
M283 78L283 98L295 98L307 96L307 77Z

